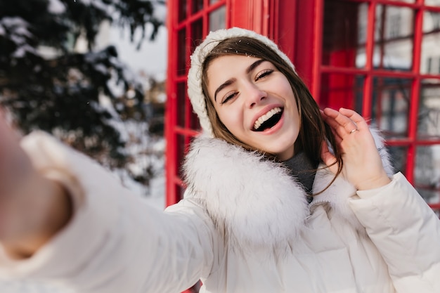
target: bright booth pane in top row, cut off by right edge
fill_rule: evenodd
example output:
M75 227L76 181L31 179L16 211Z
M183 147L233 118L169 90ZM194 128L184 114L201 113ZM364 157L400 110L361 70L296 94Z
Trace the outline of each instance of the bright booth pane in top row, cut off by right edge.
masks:
M425 11L423 15L422 60L420 60L420 73L440 74L439 47L440 13Z

